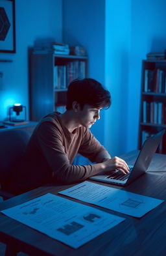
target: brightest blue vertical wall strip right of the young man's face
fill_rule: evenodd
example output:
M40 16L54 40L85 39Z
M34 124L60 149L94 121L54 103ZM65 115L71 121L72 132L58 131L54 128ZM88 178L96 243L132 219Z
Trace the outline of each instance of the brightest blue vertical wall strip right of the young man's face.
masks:
M121 2L121 1L120 1ZM106 111L105 145L112 156L126 151L130 71L130 0L106 1L106 87L112 106Z

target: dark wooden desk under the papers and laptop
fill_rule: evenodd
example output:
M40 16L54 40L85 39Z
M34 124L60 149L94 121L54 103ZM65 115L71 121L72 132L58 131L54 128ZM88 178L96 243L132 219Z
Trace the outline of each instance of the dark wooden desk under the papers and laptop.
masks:
M123 158L132 164L134 159L136 159L137 153L137 151L130 152L129 154L123 155ZM104 185L166 200L166 172L164 172L166 170L166 156L156 154L154 160L154 166L151 166L152 171L148 169L145 175L142 175L129 186L121 188L120 186L110 184ZM155 166L157 165L160 172L155 171ZM97 183L101 184L100 182ZM71 186L73 184L66 186L49 185L37 188L36 190L6 200L0 204L0 210L24 203L48 192L57 194L60 190ZM77 201L75 199L71 200ZM88 203L83 204L89 205ZM141 219L132 218L125 214L113 212L112 210L98 206L94 207L124 217L126 220L79 249L72 249L69 246L65 246L53 238L49 238L49 236L43 235L38 231L30 229L30 227L0 214L0 240L12 246L13 249L12 253L7 251L6 255L14 256L14 249L16 249L32 256L165 256L165 202Z

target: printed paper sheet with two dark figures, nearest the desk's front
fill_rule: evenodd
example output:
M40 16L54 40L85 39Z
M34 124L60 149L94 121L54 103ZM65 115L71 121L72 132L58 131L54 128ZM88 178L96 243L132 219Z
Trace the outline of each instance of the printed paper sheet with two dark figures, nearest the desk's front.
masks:
M75 249L125 220L51 193L1 212Z

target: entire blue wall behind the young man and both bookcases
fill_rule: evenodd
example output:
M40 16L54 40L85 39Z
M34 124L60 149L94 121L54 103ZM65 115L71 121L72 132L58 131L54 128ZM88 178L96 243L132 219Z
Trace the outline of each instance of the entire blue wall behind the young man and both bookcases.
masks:
M89 77L110 90L112 106L91 129L112 156L137 148L141 61L166 46L165 0L16 0L16 54L1 53L0 120L14 102L29 108L27 50L39 40L82 45Z

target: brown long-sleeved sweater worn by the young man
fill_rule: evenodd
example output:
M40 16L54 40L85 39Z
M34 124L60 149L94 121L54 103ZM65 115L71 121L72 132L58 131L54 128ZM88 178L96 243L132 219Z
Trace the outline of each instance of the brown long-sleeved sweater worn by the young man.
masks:
M18 192L24 192L54 180L69 184L99 173L96 165L73 165L77 153L97 163L110 158L88 128L81 126L71 133L62 125L59 113L47 115L34 130L12 182L16 179Z

